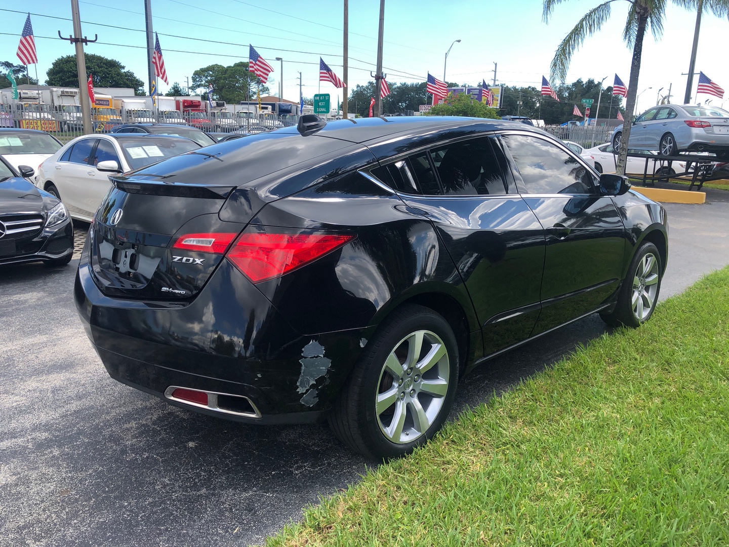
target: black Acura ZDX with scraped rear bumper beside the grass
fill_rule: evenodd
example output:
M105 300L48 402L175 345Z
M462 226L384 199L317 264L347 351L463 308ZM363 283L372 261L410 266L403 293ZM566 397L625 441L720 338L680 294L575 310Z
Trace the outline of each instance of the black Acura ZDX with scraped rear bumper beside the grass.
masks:
M521 123L303 116L111 178L74 292L112 378L326 417L370 457L432 437L507 349L593 313L639 326L666 268L663 208Z

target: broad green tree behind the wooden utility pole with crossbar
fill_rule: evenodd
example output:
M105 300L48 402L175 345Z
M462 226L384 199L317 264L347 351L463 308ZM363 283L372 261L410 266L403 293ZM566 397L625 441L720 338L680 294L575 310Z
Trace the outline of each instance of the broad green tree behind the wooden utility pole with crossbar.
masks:
M135 95L144 95L144 82L119 61L93 53L85 53L86 71L93 74L93 85L99 88L132 88ZM76 55L59 57L47 71L47 85L79 87Z

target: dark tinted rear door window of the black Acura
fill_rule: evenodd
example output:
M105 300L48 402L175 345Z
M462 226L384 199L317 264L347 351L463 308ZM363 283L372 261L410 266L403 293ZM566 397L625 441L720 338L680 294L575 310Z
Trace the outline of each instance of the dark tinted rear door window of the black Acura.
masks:
M431 151L445 195L504 194L504 178L488 137Z

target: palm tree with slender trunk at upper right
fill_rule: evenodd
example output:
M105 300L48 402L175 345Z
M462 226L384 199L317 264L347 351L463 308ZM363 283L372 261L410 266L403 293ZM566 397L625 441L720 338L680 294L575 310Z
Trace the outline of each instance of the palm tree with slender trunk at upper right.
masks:
M550 15L557 4L565 0L544 0L542 18L545 23L549 22ZM569 31L564 40L555 51L550 77L564 79L572 61L572 54L585 42L585 38L592 36L602 28L609 19L612 10L612 3L618 0L607 0L599 6L590 9L577 22L577 25ZM638 75L640 73L640 61L643 53L643 37L646 28L650 30L655 39L663 34L663 18L666 15L666 0L621 0L630 4L628 19L625 20L623 40L628 47L633 47L633 60L631 61L631 77L628 80L628 97L625 100L625 122L623 123L623 138L626 146L620 147L617 155L618 174L625 173L625 162L628 159L628 139L631 135L634 108L636 104L636 92L638 90ZM729 0L673 0L674 4L686 9L698 9L703 6L709 7L714 15L725 16L729 13Z

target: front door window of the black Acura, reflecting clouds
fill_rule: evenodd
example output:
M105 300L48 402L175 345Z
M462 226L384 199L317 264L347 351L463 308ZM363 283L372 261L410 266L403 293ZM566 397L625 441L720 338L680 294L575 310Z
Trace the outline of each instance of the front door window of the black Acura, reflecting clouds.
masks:
M529 194L593 193L595 177L572 155L533 136L504 135Z

